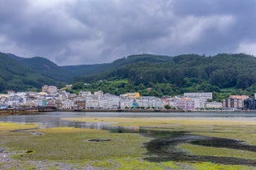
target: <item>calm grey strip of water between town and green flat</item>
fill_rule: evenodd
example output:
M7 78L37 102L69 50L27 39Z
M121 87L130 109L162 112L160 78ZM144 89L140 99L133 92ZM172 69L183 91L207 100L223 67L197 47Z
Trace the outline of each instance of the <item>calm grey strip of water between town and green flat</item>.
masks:
M255 113L75 113L75 112L52 112L37 115L9 115L0 116L0 122L21 122L21 123L40 123L41 126L77 126L78 122L63 121L66 117L203 117L207 119L228 119L228 120L250 120L256 122ZM102 123L104 124L104 123Z

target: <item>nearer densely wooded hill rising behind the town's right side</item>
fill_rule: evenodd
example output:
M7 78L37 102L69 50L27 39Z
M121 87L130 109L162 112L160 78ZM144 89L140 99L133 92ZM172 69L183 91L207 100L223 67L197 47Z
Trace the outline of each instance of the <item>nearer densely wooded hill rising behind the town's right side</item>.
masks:
M108 80L105 81L109 84L108 88L102 83L94 84L93 88L102 86L103 90L114 94L139 91L141 94L157 96L195 91L219 93L226 90L233 94L253 94L256 90L256 58L243 53L223 53L213 57L197 54L177 57L144 54L116 62L120 63L116 67L94 75L76 77L75 82ZM81 88L82 84L77 85ZM79 89L78 86L73 88ZM83 88L93 89L90 85Z

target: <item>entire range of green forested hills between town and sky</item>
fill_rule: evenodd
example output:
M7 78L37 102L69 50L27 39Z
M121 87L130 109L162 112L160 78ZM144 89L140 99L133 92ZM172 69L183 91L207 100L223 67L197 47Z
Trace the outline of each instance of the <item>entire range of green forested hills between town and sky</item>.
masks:
M43 57L22 58L0 53L0 60L0 91L72 83L71 92L103 90L121 94L139 91L155 96L195 91L256 92L256 58L243 53L221 53L211 57L141 54L111 63L65 67Z

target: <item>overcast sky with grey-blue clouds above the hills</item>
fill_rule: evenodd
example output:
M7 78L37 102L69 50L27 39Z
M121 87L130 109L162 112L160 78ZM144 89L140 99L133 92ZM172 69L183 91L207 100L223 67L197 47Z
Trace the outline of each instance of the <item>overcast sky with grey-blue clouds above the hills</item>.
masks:
M0 0L0 52L59 66L132 54L256 56L256 0Z

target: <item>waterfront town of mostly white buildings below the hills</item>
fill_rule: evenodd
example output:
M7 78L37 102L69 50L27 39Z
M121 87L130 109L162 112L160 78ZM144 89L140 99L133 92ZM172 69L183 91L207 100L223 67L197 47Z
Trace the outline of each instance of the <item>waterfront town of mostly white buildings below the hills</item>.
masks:
M254 99L247 95L230 95L222 103L212 101L212 93L184 93L175 97L157 98L140 96L139 93L127 93L119 96L104 94L102 91L80 91L70 94L58 90L54 85L42 86L41 92L14 92L0 94L0 109L15 108L56 108L66 111L83 110L174 110L174 111L247 111L256 110Z

